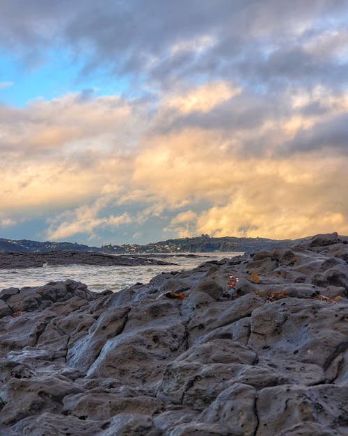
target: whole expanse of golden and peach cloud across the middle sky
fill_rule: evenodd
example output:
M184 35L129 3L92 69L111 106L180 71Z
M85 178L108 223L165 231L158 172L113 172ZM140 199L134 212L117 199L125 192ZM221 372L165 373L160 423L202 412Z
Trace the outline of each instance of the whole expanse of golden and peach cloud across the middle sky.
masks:
M143 225L180 208L168 225L180 236L348 233L347 154L333 149L284 153L289 138L326 117L300 113L301 108L319 99L331 115L345 113L345 93L324 96L317 90L290 102L290 113L269 115L250 129L233 132L228 122L219 128L196 123L163 133L158 123L165 122L168 108L186 120L193 111L209 114L239 92L224 82L182 89L164 96L152 118L145 105L117 96L81 100L68 95L9 109L13 122L0 125L3 224L10 225L14 212L69 209L47 230L49 238L64 239L103 226ZM283 154L276 154L278 149ZM31 150L35 153L29 156ZM110 201L148 207L132 218L103 216L102 207Z

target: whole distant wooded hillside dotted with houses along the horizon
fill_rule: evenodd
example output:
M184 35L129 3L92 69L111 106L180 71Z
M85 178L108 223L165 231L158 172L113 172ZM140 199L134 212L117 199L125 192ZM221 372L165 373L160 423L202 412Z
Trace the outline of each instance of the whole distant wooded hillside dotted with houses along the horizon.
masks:
M102 245L101 248L89 247L88 245L71 242L38 242L28 239L0 238L0 252L48 252L48 251L93 251L106 253L168 253L168 252L250 252L256 250L268 250L276 245L291 243L290 239L274 240L267 238L235 238L225 236L223 238L212 238L209 235L195 236L193 238L168 239L148 243L146 245L124 244L124 245Z

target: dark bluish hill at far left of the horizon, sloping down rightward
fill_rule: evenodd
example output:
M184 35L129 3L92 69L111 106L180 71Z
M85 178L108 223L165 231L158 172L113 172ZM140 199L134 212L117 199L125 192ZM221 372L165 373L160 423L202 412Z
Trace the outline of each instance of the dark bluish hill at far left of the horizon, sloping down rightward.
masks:
M48 252L48 251L95 251L100 252L100 248L88 247L88 245L72 243L72 242L37 242L29 239L13 239L0 238L0 252Z

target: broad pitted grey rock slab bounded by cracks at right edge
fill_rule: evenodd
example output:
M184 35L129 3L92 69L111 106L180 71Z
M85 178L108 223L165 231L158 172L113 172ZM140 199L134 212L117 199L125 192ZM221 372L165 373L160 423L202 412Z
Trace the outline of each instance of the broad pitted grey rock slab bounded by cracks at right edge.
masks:
M285 298L256 309L248 345L258 353L326 369L347 346L347 304Z

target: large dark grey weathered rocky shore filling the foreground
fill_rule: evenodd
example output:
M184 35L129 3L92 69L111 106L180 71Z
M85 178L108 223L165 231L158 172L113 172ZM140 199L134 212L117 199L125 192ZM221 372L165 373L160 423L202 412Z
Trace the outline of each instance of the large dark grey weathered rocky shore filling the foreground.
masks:
M348 435L348 238L0 293L0 435Z

